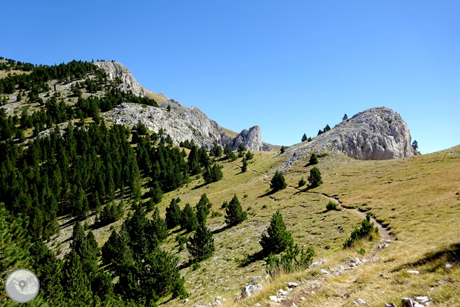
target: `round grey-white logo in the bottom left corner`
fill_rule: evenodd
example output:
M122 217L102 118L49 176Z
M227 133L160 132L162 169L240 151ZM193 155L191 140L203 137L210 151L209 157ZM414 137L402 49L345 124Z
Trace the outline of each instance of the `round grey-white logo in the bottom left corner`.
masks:
M17 303L27 303L37 296L40 282L34 272L26 269L14 270L5 283L6 294Z

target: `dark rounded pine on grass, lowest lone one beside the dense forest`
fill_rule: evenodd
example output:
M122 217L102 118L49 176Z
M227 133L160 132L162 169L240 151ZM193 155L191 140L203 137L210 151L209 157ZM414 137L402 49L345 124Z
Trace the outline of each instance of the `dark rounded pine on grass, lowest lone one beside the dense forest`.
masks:
M187 248L195 261L208 259L215 250L213 233L206 225L200 224L195 232L195 236L190 237Z

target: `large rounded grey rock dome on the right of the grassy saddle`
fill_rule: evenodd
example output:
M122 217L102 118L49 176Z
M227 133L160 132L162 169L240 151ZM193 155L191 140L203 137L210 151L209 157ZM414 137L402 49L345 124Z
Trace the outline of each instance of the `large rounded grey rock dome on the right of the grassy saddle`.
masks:
M401 115L385 106L367 109L316 136L311 142L289 147L284 154L289 158L282 171L289 169L296 160L303 160L312 151L332 151L358 160L413 156L410 141L408 125Z

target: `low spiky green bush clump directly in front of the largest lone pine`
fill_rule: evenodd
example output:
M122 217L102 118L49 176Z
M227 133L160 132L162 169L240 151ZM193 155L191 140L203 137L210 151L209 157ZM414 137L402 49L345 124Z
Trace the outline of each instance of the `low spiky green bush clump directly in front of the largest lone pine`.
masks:
M315 252L312 247L307 248L307 251L305 252L303 249L299 250L298 245L289 245L286 253L281 257L269 254L269 256L265 259L267 262L267 266L265 268L271 277L276 277L282 273L305 270L312 264L314 255Z

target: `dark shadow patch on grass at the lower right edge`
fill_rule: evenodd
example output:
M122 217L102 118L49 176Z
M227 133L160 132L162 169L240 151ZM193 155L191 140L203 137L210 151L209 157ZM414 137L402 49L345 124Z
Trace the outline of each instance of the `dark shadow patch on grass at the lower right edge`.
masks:
M432 266L428 270L429 272L435 272L439 268L445 268L445 262L455 260L460 261L460 243L452 244L448 248L444 248L442 250L428 252L423 255L422 259L411 263L405 263L397 268L394 268L392 272L405 270L407 268L414 268L417 266L425 266L426 264L439 261L439 263L436 263L435 266Z

